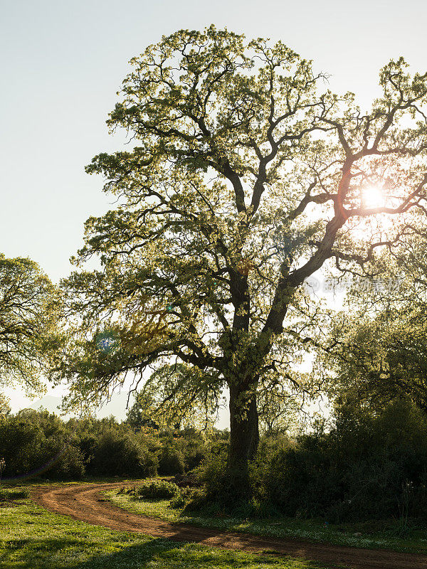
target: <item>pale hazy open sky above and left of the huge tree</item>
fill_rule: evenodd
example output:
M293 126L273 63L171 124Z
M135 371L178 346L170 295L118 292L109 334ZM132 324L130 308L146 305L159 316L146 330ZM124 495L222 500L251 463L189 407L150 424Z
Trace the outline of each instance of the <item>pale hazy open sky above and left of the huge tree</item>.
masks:
M0 0L0 251L29 256L54 280L82 243L83 223L110 204L85 164L120 148L107 113L128 60L180 28L217 27L281 39L332 90L351 90L367 107L378 71L404 55L427 70L423 0ZM10 395L10 393L9 393ZM15 393L14 410L26 403Z

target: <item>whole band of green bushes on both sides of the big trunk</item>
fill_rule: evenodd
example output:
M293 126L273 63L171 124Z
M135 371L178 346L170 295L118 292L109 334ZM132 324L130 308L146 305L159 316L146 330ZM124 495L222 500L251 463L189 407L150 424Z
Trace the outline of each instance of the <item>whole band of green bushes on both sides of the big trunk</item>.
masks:
M337 407L330 430L319 423L293 436L262 433L250 467L253 497L244 504L233 484L223 485L228 431L156 430L129 415L121 423L64 422L33 410L3 415L4 477L20 483L26 474L59 480L161 474L199 488L188 509L220 504L246 516L427 521L427 417L408 399L394 400L381 413L347 401Z

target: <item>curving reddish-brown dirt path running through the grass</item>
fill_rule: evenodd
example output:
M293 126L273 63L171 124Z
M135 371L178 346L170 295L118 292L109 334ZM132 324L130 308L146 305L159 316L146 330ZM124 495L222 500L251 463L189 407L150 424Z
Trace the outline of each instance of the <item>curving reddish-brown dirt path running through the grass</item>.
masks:
M320 561L346 569L427 569L427 556L389 550L357 549L275 539L249 533L174 524L158 518L138 516L112 506L100 492L123 484L78 484L38 487L31 491L37 504L58 514L120 531L134 531L174 541L193 541L204 546L236 549L253 553L278 553Z

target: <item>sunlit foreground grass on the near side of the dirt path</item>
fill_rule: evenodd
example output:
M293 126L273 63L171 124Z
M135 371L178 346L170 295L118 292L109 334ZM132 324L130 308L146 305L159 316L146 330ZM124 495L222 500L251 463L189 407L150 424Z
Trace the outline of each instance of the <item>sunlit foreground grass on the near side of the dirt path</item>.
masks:
M9 503L0 504L0 569L319 567L325 565L112 531L53 514L28 498L9 496Z

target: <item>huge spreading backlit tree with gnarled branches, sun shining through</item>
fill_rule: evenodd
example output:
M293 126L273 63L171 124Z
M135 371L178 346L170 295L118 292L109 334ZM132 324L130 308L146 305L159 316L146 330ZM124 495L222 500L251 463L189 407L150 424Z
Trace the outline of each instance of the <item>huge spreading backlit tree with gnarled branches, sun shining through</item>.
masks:
M391 61L362 112L283 43L214 26L164 37L132 65L107 124L133 146L87 168L118 205L86 223L75 262L102 267L65 282L80 335L56 370L72 394L97 395L147 366L190 366L183 392L228 389L228 469L245 477L258 389L296 382L316 314L305 280L374 257L384 235L361 238L363 220L423 205L426 75ZM367 199L375 186L384 203Z

